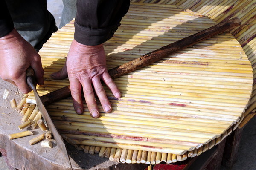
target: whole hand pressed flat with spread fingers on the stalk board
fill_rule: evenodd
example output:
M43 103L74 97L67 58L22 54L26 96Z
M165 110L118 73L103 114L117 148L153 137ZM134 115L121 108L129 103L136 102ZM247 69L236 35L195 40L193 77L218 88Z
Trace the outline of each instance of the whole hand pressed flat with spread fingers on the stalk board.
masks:
M104 111L111 112L111 104L108 101L101 80L111 89L116 98L121 97L119 89L108 74L105 51L102 44L86 46L73 40L67 56L66 67L64 66L61 71L52 74L52 78L63 79L67 76L67 73L74 108L78 114L82 114L84 109L81 98L81 90L83 89L91 116L94 118L99 117L99 109L95 101L93 87Z

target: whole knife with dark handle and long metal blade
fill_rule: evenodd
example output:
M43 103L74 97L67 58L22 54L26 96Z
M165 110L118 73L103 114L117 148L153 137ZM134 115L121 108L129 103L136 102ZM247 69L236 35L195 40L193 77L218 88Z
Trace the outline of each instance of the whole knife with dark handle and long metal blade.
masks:
M49 130L52 132L52 135L53 135L56 143L58 144L58 146L61 149L61 152L64 154L65 158L67 159L71 170L73 170L73 168L71 166L70 158L67 154L67 150L66 150L64 141L61 138L61 135L58 133L58 130L56 129L55 125L53 124L52 119L50 118L47 110L45 109L44 104L42 103L42 101L40 99L40 96L38 95L38 92L35 87L36 86L35 72L31 67L29 67L26 70L26 82L34 92L36 104L38 106L39 111L41 112L42 117L44 118L44 121L46 121L46 124L47 124Z

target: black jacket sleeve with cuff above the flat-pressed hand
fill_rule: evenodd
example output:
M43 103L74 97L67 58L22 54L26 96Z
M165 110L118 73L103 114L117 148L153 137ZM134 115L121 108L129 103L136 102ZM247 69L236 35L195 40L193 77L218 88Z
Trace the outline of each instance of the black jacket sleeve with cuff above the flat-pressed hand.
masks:
M130 0L77 0L74 39L94 46L113 37Z

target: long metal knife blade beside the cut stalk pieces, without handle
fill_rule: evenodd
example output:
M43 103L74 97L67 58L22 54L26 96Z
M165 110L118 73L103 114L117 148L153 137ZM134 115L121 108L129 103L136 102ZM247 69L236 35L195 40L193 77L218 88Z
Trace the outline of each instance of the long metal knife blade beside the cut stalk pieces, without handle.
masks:
M55 125L52 122L52 119L50 118L47 110L44 107L44 104L42 103L40 96L38 95L38 92L35 90L33 90L34 94L35 94L35 100L37 103L37 107L39 109L39 111L41 112L41 115L43 116L44 120L46 121L49 130L52 132L52 135L56 141L56 143L58 144L58 147L61 149L61 152L64 154L64 156L66 157L70 168L73 170L72 166L71 166L71 162L70 162L70 158L67 154L67 149L66 146L64 144L63 139L61 138L61 135L58 133L58 130L56 129Z

